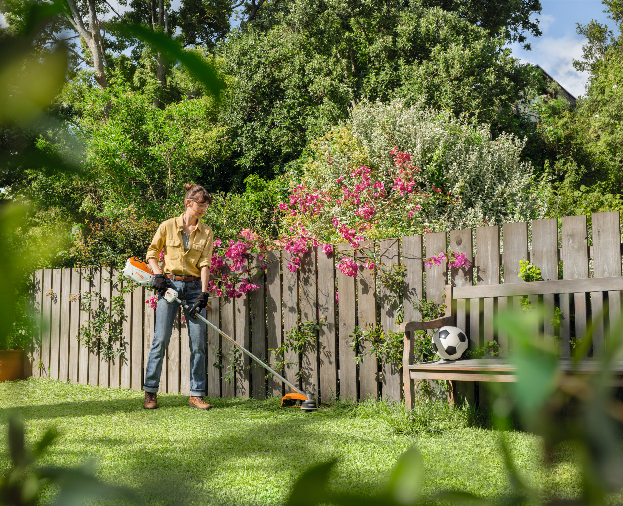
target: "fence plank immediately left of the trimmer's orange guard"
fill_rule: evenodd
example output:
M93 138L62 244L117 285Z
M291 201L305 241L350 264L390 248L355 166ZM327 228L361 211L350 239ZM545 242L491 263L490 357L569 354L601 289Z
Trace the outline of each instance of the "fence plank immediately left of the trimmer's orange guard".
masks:
M277 367L276 350L282 343L282 315L281 303L281 256L278 251L269 251L266 255L266 306L267 306L267 354L269 365L273 369ZM281 372L281 371L277 371ZM283 395L283 382L269 376L269 395Z

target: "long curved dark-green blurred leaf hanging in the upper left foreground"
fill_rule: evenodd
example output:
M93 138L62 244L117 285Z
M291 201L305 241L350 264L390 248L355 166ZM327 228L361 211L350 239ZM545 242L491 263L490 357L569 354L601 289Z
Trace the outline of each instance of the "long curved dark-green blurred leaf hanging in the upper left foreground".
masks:
M136 37L150 44L154 49L162 52L169 60L178 61L188 70L194 78L199 80L210 93L220 96L225 87L225 83L218 77L216 70L204 62L198 55L186 51L175 40L168 35L141 26L117 24L116 29L121 34Z

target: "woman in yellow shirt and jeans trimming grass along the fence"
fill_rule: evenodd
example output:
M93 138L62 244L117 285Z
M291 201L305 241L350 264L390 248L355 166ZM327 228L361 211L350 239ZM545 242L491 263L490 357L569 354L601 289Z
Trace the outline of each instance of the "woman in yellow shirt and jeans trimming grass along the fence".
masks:
M158 232L147 250L147 261L156 276L154 288L158 290L156 329L151 343L150 357L145 367L145 408L158 408L156 392L159 389L160 373L166 349L173 331L173 321L178 314L178 302L167 302L163 296L168 286L178 292L179 298L194 300L190 311L184 309L188 325L189 347L191 349L190 384L191 397L188 405L199 410L209 410L211 405L204 401L206 395L206 324L195 314L206 316L208 299L207 283L212 262L212 229L199 220L206 212L212 199L207 191L197 184L186 184L184 213L170 218L158 227ZM164 248L164 273L158 267L158 257Z

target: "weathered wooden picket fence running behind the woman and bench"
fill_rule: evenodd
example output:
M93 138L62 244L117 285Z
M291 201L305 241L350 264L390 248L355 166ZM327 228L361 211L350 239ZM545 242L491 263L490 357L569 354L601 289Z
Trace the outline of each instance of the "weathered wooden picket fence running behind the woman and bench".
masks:
M564 217L561 220L535 220L531 223L505 223L502 227L479 227L452 230L449 233L427 233L362 243L369 251L378 251L385 265L402 264L406 268L404 318L420 318L413 302L422 296L442 304L448 279L456 286L523 282L517 277L520 260L540 266L543 279L577 279L589 276L621 275L621 227L619 212L594 213L589 238L587 217ZM503 241L501 241L503 239ZM349 250L338 245L338 250ZM465 253L470 268L447 269L445 262L424 268L422 258L440 251ZM272 251L265 274L255 277L259 290L240 299L221 298L207 311L207 318L255 355L275 363L271 350L282 342L283 335L297 325L297 319L313 321L325 317L316 342L302 356L285 357L298 363L285 369L285 377L299 383L304 391L320 398L340 397L351 400L401 398L401 371L396 365L366 355L356 363L350 335L356 326L380 324L384 330L396 330L396 306L379 286L368 269L357 278L341 274L335 268L333 255L320 248L309 248L300 271L287 269L287 252ZM358 258L361 265L363 256ZM257 263L257 255L249 259ZM449 276L449 278L448 278ZM503 279L501 278L503 276ZM58 378L71 383L121 387L141 390L145 378L155 325L155 310L145 300L153 291L137 288L123 294L125 312L123 336L125 358L108 360L89 352L77 340L78 327L89 324L89 313L81 311L78 299L88 291L100 291L105 307L110 310L111 297L118 296L122 285L117 273L106 269L45 269L34 273L35 307L42 316L40 342L33 352L32 375ZM426 286L426 290L424 287ZM339 301L336 302L336 291ZM595 300L592 304L599 304ZM591 301L575 301L575 311L590 319ZM599 307L594 307L599 311ZM482 340L486 322L472 314L470 334ZM224 339L211 329L207 331L207 395L223 397L264 398L282 395L281 382L265 379L265 370L243 356L244 367L237 368L235 378L224 379L231 370L231 346L219 354ZM363 348L369 346L361 344ZM366 349L358 350L359 354ZM561 355L569 354L569 345ZM221 361L221 367L215 363ZM168 347L160 390L189 393L188 329L179 315Z

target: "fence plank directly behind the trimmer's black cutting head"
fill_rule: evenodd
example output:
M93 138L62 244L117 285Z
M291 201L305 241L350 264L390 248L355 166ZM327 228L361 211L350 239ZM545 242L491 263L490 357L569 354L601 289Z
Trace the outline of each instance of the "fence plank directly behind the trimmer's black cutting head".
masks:
M307 248L301 259L301 323L318 320L316 301L316 248ZM318 398L318 331L307 345L301 360L303 391Z

